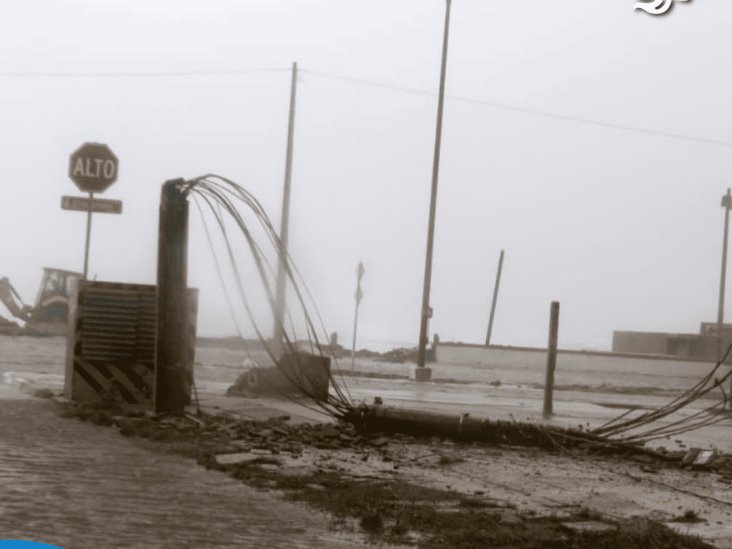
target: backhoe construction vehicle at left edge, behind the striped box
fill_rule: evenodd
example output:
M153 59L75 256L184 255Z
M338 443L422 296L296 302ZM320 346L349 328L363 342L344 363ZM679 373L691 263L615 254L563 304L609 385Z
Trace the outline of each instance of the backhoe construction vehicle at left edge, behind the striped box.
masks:
M26 305L7 278L0 278L0 302L17 321L0 316L0 334L65 335L69 319L69 298L81 273L43 268L43 279L35 305ZM19 322L20 323L19 323Z

